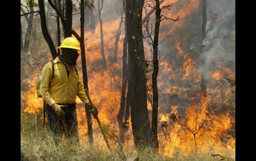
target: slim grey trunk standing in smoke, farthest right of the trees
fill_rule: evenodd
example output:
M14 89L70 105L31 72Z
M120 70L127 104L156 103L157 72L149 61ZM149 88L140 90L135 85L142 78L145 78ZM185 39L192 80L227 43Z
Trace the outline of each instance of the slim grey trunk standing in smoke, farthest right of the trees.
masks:
M207 65L206 65L206 55L204 53L204 45L203 40L206 37L206 22L207 22L207 5L206 0L202 0L203 2L203 23L202 23L202 45L201 45L201 53L202 53L202 71L201 71L201 91L203 92L204 97L207 95L206 93L206 75L207 75Z

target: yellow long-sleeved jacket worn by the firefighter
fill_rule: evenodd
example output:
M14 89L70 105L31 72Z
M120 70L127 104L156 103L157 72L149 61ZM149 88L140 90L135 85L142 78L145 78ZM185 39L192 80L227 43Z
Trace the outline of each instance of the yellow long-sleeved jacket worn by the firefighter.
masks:
M52 63L47 63L42 72L42 81L40 85L40 93L43 99L52 106L54 103L59 104L74 104L76 96L83 102L89 103L89 100L84 92L84 86L81 78L76 74L75 69L71 67L69 78L67 77L66 67L56 57L54 62L54 78L52 77ZM76 70L77 67L75 66ZM49 87L49 83L50 87Z

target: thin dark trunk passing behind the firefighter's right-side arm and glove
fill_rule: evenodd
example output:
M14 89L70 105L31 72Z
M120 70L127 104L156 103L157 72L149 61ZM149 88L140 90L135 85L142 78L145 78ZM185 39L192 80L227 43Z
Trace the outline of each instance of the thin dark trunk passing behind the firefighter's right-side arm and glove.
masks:
M84 48L84 9L83 3L84 1L81 0L81 18L80 18L80 30L81 30L81 38L80 38L80 47L81 47L81 60L82 60L82 72L83 72L83 84L84 88L88 89L88 80L87 80L87 69L86 69L86 58L85 58L85 48ZM91 114L88 112L88 108L85 106L85 113L86 113L86 120L87 120L87 132L88 132L88 141L90 147L93 147L93 136L92 136L92 123L91 123Z

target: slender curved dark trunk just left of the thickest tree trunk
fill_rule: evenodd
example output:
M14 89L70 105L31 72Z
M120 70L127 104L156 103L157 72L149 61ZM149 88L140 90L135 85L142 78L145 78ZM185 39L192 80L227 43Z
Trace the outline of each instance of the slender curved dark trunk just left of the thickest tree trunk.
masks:
M123 2L123 9L125 9L125 1ZM121 16L121 21L123 18L123 13ZM119 26L120 27L120 26ZM120 30L120 28L119 28ZM126 100L126 86L127 86L127 29L125 26L125 38L123 42L123 80L122 80L122 93L121 93L121 103L120 103L120 110L117 115L117 121L119 125L119 138L121 143L124 143L124 132L125 129L123 123L123 116L125 110L125 100Z

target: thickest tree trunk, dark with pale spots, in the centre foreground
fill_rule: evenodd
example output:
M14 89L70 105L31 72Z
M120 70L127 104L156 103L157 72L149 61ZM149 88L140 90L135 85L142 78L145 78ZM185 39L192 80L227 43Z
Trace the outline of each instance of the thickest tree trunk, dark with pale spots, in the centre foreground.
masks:
M144 0L126 0L128 54L131 63L131 122L135 147L152 146L147 109L145 55L142 39Z

